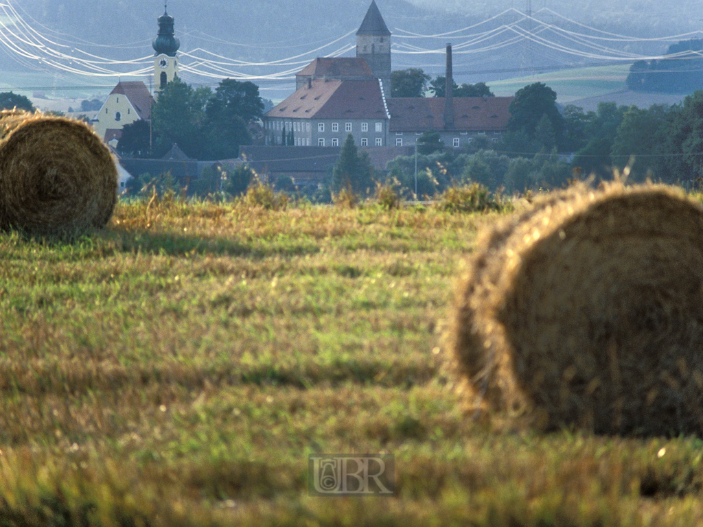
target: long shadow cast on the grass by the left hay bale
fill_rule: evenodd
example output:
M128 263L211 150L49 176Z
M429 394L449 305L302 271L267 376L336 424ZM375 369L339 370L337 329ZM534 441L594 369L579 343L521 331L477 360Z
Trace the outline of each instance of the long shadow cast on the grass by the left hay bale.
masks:
M151 233L148 230L105 231L105 238L115 240L122 252L146 254L215 254L221 256L302 256L316 254L320 247L311 240L273 239L240 242L228 238L181 235L176 233Z

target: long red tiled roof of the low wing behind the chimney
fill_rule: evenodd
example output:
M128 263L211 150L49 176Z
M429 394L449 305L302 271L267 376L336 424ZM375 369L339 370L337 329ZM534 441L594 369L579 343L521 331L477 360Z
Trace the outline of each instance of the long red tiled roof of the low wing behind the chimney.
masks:
M459 131L501 131L508 127L512 97L455 97L454 126ZM444 130L444 97L391 98L390 131Z

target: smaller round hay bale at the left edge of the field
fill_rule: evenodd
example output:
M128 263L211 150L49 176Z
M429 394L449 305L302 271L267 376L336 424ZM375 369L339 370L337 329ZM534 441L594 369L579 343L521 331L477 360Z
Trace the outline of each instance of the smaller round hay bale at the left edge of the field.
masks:
M0 134L0 228L72 237L108 223L117 168L88 125L1 112Z

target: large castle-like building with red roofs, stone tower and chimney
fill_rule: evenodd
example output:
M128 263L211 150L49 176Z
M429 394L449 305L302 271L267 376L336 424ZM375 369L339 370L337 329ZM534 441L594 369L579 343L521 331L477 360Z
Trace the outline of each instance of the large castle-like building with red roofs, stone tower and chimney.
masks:
M347 135L361 147L407 147L437 131L444 144L498 141L512 97L453 97L451 46L446 96L392 98L391 33L371 2L356 32L356 57L316 58L296 74L296 91L264 116L266 145L336 147Z

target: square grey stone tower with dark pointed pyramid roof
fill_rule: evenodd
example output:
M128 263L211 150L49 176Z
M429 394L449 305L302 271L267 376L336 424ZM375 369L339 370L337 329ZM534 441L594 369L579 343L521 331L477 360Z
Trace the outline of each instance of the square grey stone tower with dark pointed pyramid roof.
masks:
M356 56L366 60L375 77L383 82L386 97L391 96L391 32L371 1L366 16L356 32Z

